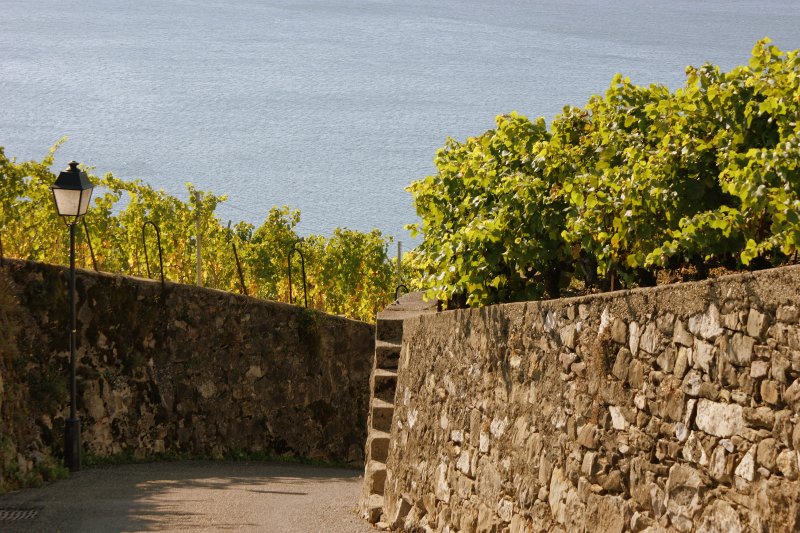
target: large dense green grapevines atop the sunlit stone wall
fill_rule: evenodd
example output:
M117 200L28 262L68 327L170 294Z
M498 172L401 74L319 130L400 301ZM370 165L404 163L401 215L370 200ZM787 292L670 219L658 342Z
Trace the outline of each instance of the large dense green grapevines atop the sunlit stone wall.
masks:
M509 114L408 190L420 286L449 305L652 285L785 263L800 245L800 57L688 67L671 92L617 75L544 119Z

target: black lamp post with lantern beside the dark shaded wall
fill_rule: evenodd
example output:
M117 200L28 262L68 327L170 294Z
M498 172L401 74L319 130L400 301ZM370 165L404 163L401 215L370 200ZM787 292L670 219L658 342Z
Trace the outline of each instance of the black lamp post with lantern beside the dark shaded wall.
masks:
M81 421L76 412L75 386L75 225L86 214L92 197L92 183L86 172L71 161L50 187L58 214L69 227L69 419L64 424L64 465L72 471L81 469Z

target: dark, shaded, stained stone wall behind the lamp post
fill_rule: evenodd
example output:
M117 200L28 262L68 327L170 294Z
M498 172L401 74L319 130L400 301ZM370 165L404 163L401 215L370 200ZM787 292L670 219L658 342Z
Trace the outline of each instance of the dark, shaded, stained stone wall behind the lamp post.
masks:
M18 438L31 441L5 453L32 468L37 448L60 453L68 414L68 271L6 260L0 275L4 300L14 302L0 320L6 333L14 326L14 338L0 343L0 401L16 398L0 403L0 412L28 427ZM77 293L85 453L262 452L363 462L374 326L88 271L79 271Z

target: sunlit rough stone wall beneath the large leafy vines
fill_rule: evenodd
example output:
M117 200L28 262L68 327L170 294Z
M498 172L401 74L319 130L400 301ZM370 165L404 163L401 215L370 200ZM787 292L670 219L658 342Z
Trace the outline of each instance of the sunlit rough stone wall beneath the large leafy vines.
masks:
M406 320L384 519L800 530L800 268Z

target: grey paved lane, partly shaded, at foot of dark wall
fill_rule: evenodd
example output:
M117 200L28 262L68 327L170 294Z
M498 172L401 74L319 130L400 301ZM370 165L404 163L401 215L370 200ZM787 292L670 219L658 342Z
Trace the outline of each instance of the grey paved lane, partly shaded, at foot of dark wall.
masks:
M0 531L375 533L357 515L361 479L357 470L261 462L92 468L0 496ZM3 518L15 509L38 514Z

